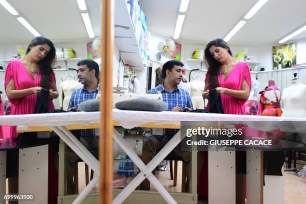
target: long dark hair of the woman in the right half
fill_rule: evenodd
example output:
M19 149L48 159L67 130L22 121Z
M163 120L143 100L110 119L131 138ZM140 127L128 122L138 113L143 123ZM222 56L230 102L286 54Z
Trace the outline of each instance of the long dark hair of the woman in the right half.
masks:
M216 39L208 42L208 44L206 45L206 48L205 48L205 60L206 60L206 65L207 65L207 73L209 74L209 77L210 77L209 78L209 83L208 83L208 86L209 86L210 89L216 88L216 87L219 86L218 73L221 69L221 63L218 60L216 60L215 58L213 58L213 56L211 55L211 53L209 51L209 48L212 45L227 48L228 53L230 54L230 56L232 56L227 42L225 42L223 39L216 38Z

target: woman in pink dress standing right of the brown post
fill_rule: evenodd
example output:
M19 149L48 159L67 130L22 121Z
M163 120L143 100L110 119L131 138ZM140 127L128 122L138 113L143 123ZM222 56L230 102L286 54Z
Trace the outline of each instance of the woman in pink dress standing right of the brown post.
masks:
M216 89L221 97L225 114L245 114L244 103L248 99L251 77L245 62L237 62L232 58L230 48L223 39L210 41L205 48L207 73L203 98L208 99L206 110L209 111L209 89ZM236 151L236 203L242 203L244 197L244 162L245 152ZM199 194L208 195L208 156L204 154L204 164L200 172ZM206 162L206 163L205 163ZM239 167L238 167L239 166ZM242 170L241 170L242 169ZM238 194L237 194L238 193Z

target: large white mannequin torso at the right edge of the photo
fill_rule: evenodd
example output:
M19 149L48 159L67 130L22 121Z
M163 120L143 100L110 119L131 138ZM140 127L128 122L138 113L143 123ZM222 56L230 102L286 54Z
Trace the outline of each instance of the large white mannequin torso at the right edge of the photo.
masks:
M283 112L281 116L306 118L306 85L299 79L292 80L291 84L282 93Z

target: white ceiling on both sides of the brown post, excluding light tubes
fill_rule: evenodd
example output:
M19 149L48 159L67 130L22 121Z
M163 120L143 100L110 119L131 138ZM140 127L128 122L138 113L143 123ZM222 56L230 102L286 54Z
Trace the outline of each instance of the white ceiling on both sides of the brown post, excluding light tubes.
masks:
M7 0L37 31L55 43L88 38L76 0ZM101 1L86 0L95 36L100 36ZM190 0L180 40L205 43L223 38L257 0ZM180 0L139 0L148 29L172 38ZM306 23L306 0L268 0L229 40L231 45L261 46ZM33 35L0 6L0 44L27 44ZM306 31L292 40L306 38ZM192 41L193 40L193 41Z

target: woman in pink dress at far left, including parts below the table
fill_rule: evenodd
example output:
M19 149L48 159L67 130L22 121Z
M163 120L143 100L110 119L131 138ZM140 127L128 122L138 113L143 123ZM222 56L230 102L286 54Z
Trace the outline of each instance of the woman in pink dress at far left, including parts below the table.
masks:
M7 64L5 70L4 86L6 96L12 103L10 114L32 114L36 104L37 95L42 88L49 89L49 110L54 109L53 98L58 97L56 90L53 65L55 61L55 48L53 43L45 37L35 37L27 47L26 55L21 60L13 60ZM15 126L10 126L10 136L15 137ZM52 149L49 150L52 155ZM18 192L18 151L7 151L7 174L9 192ZM57 173L49 160L49 200L57 197Z

